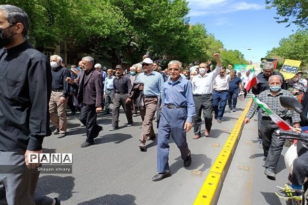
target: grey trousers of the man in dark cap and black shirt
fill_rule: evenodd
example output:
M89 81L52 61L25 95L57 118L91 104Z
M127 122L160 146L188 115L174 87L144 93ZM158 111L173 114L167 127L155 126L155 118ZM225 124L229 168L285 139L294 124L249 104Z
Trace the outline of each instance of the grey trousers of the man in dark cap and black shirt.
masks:
M130 103L126 103L126 99L128 94L119 94L115 93L113 96L113 109L112 109L112 127L119 127L119 114L120 114L120 106L122 106L126 118L127 123L132 124L132 114L131 114L131 107Z

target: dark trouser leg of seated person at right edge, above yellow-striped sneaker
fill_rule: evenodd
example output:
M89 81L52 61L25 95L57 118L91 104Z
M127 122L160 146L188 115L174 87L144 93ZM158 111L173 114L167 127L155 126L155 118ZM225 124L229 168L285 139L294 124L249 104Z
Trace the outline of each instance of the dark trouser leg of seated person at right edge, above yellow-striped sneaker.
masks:
M308 176L308 152L293 161L293 171L290 181L295 185L303 185Z

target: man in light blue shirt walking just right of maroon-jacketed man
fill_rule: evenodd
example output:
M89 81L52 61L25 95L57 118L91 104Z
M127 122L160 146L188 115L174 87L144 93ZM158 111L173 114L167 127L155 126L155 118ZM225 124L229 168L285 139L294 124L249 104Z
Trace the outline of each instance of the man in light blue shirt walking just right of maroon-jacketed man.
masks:
M107 115L110 114L110 110L109 110L109 105L110 103L112 103L112 99L113 99L113 79L114 79L114 75L113 75L113 70L112 69L108 69L107 70L107 77L105 79L105 86L104 86L104 98L105 98L105 111L103 112L103 115Z

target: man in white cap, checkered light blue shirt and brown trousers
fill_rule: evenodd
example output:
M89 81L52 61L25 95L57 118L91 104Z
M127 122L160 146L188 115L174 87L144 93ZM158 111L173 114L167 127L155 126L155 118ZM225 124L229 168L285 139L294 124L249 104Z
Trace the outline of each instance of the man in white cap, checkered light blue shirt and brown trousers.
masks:
M152 120L155 115L158 97L161 97L163 93L164 79L160 73L153 71L153 61L150 58L144 58L141 64L144 72L138 75L136 82L144 84L139 87L139 90L143 90L144 95L144 109L140 111L143 122L139 148L144 151L146 140L156 138Z

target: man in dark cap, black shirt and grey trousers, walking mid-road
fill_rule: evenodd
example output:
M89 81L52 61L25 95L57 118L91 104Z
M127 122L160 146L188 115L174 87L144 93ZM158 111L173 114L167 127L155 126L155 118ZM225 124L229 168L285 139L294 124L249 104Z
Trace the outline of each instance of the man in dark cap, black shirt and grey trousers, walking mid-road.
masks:
M112 128L110 131L119 129L119 113L120 106L122 106L126 118L127 118L127 126L132 126L132 114L130 102L131 99L128 97L128 92L131 89L131 83L129 77L123 75L123 66L117 65L115 66L115 78L113 79L113 109L112 109Z

